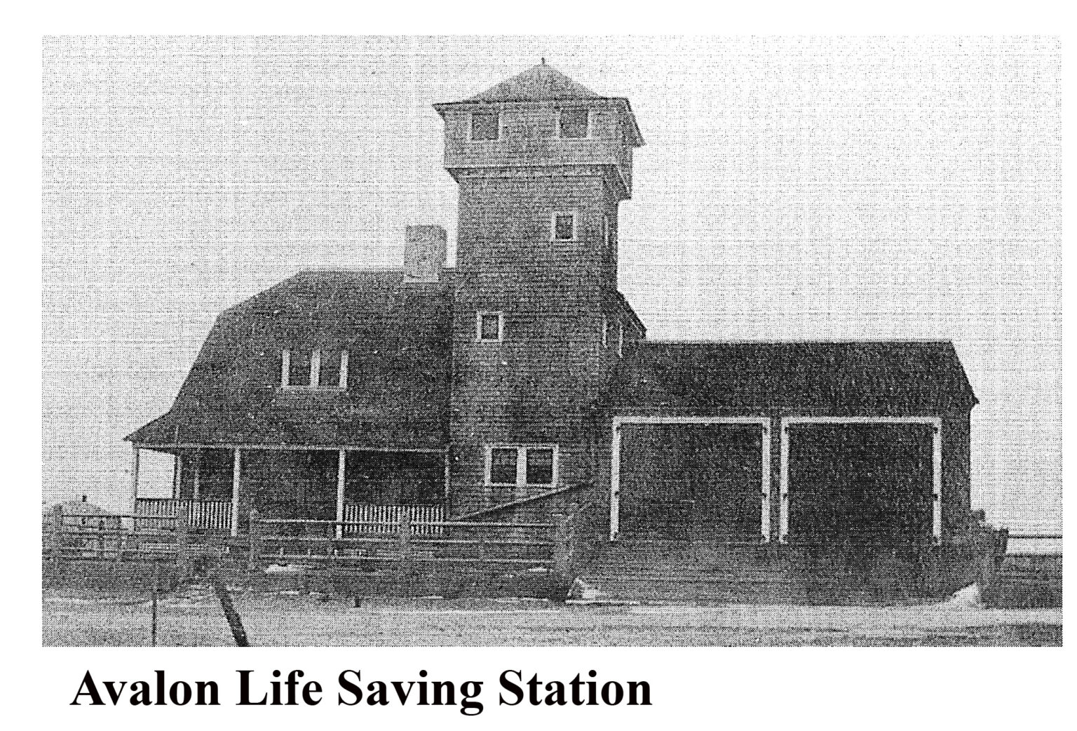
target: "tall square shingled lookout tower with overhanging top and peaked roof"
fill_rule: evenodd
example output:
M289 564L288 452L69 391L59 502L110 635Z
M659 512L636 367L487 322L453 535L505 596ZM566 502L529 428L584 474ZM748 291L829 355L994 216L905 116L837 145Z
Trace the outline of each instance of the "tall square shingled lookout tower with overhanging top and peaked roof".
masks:
M582 413L625 340L643 336L617 293L617 209L631 197L643 137L628 99L545 64L434 108L460 185L450 416L459 513L589 479ZM529 445L555 453L535 446L532 459ZM531 461L550 460L529 474ZM476 484L485 495L472 494Z

